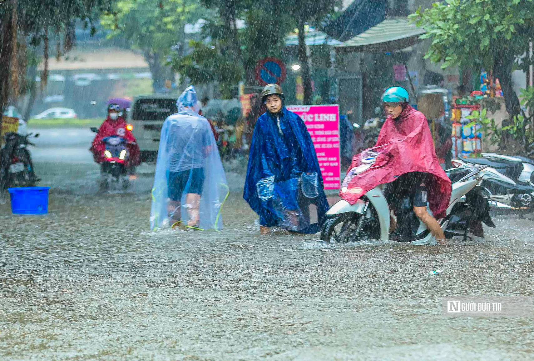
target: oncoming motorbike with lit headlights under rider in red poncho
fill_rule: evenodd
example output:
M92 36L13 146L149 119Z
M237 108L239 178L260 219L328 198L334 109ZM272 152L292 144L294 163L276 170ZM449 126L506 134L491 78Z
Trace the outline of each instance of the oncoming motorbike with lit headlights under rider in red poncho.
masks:
M97 127L91 130L98 132ZM104 137L105 144L104 160L100 164L99 189L106 191L109 189L128 189L130 185L130 174L135 172L135 167L128 166L128 142L119 135Z

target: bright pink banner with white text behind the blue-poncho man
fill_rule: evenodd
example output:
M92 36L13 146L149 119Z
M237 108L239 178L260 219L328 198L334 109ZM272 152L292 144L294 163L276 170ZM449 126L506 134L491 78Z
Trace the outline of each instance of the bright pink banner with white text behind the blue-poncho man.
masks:
M340 188L339 105L290 105L310 132L325 189Z

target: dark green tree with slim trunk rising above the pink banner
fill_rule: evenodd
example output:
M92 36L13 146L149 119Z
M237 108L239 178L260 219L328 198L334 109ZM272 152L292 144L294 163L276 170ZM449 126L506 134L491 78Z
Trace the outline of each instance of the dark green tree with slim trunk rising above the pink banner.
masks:
M300 34L298 53L304 83L304 102L311 101L311 76L304 44L304 26L323 20L328 12L334 11L336 1L202 0L202 3L217 10L217 16L209 19L209 24L205 26L206 35L211 39L211 50L215 51L207 51L208 48L196 45L195 52L198 51L199 54L184 59L176 55L173 57L175 69L182 69L186 76L198 79L195 69L218 64L221 66L219 71L210 76L222 84L229 77L221 73L237 76L240 67L244 78L233 78L233 82L245 79L247 83L254 84L254 69L258 60L269 56L281 57L285 36L296 27ZM246 28L238 29L238 20L244 20ZM210 54L213 58L209 57Z

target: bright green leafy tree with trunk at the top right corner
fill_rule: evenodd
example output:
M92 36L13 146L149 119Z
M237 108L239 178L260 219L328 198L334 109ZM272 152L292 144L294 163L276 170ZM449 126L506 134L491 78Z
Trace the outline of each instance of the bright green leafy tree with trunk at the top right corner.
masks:
M427 30L421 37L431 40L426 58L443 62L442 68L460 65L493 71L509 116L522 113L512 71L530 65L521 56L534 36L534 0L447 0L411 17Z

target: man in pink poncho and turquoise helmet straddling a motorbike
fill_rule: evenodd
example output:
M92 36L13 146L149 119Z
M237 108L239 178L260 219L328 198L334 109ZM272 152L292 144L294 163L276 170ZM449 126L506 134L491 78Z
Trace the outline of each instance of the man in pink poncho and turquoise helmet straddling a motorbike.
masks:
M445 234L436 218L443 218L451 197L451 181L439 165L434 142L425 116L408 103L409 94L401 87L387 89L382 100L388 113L373 149L387 153L392 162L377 167L372 173L351 179L348 188L340 191L345 201L354 204L374 187L396 181L414 189L413 210L439 243ZM354 157L349 169L358 165ZM354 189L358 191L355 192ZM427 211L427 202L433 215Z

